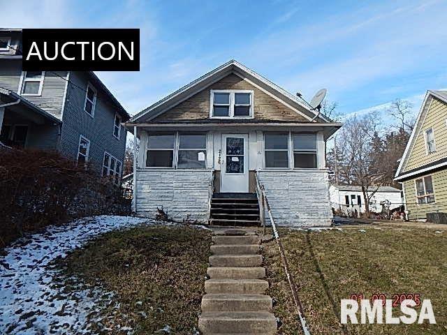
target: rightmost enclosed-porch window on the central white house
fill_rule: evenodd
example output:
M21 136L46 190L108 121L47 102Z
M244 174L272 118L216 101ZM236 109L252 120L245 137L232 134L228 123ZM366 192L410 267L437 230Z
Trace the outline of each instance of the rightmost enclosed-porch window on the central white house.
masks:
M316 134L293 134L293 167L316 168Z

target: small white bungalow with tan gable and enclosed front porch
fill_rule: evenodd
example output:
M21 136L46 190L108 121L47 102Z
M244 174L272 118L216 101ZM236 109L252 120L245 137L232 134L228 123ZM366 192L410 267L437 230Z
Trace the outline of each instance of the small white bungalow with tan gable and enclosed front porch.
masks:
M259 225L330 225L325 141L342 124L237 61L135 115L136 214Z

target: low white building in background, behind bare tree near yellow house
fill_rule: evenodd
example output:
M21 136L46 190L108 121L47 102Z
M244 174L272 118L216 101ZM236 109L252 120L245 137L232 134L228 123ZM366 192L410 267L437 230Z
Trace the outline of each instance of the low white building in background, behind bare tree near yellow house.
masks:
M370 189L369 194L375 191L376 187ZM365 200L363 199L361 186L331 185L329 193L330 204L333 209L341 210L345 214L355 210L358 213L365 211ZM391 186L380 186L369 201L369 210L380 213L382 204L389 209L400 207L403 204L402 191Z

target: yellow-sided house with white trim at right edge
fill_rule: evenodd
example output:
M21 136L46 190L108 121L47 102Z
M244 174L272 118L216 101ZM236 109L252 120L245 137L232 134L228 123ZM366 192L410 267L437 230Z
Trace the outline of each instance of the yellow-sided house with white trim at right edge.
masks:
M427 91L395 180L411 220L447 216L447 91Z

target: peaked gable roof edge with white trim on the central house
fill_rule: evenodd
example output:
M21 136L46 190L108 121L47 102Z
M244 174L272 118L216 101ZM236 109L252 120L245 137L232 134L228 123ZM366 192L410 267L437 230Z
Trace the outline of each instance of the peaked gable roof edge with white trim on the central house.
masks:
M284 103L287 107L290 107L298 114L304 116L307 120L309 120L309 122L312 121L312 119L314 119L317 115L317 113L314 110L311 110L311 108L306 105L305 101L298 98L298 96L294 96L285 89L279 87L277 84L270 82L270 80L254 72L254 70L251 70L232 59L231 61L214 68L214 70L206 73L202 77L199 77L189 84L186 84L181 89L169 94L153 105L150 105L138 114L135 114L129 122L149 121L154 119L160 114L163 114L163 112L166 112L170 108L182 103L182 101L185 101L187 98L190 98L214 82L221 80L230 73L243 77L251 84L254 84L259 89L265 91L265 93L270 94L270 96L273 96L277 100L281 101L281 103ZM332 120L325 117L323 114L319 114L318 117L325 122L332 122Z

